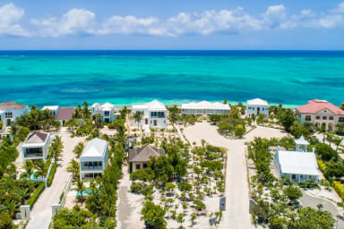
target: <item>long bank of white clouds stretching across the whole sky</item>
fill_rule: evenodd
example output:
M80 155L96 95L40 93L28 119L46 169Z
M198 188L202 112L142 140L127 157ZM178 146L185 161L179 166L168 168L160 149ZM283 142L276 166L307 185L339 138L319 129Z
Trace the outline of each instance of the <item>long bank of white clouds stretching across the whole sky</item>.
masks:
M183 35L236 34L260 30L334 29L344 27L344 2L323 12L311 9L288 13L284 4L271 5L259 15L233 10L207 10L202 13L178 13L168 19L114 15L97 21L96 13L73 8L60 17L30 20L30 29L21 24L24 9L14 4L0 5L0 36L64 37L84 35L138 34L178 37Z

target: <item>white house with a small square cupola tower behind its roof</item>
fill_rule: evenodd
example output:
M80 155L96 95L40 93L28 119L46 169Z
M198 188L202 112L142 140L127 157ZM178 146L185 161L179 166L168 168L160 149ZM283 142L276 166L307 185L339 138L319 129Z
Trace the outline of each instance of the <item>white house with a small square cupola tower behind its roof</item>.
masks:
M319 172L314 150L312 152L306 151L306 146L309 143L303 136L295 140L295 142L297 143L296 151L277 149L274 163L280 178L288 177L297 183L313 178L314 182L317 183L319 181Z

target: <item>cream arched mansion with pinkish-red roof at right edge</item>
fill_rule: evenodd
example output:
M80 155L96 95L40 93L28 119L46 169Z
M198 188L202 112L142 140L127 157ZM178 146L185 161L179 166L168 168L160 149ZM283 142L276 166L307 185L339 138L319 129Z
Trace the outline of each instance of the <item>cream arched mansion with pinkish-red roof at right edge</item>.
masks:
M314 123L316 128L323 126L328 131L335 131L336 124L344 123L344 111L326 100L310 100L295 111L301 123Z

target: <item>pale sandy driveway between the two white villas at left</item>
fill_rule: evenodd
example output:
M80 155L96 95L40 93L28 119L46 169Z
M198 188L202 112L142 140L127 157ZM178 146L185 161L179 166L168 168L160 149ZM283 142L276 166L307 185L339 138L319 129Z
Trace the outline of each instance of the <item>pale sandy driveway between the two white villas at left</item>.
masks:
M58 162L54 181L49 188L46 188L39 196L39 199L30 212L30 221L26 229L47 229L51 222L51 205L57 204L62 191L64 191L65 182L71 175L66 171L69 161L73 158L73 148L82 141L81 138L70 138L68 133L62 133L64 142L64 152Z

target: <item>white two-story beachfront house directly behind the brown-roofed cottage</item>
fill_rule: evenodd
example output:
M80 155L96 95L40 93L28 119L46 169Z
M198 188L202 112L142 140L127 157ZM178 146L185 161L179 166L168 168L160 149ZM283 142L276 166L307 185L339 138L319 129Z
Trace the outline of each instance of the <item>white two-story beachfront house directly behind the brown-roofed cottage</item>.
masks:
M136 123L133 121L136 125L159 129L168 127L168 109L158 100L153 100L144 105L133 105L132 114L136 112L143 114L141 122Z

